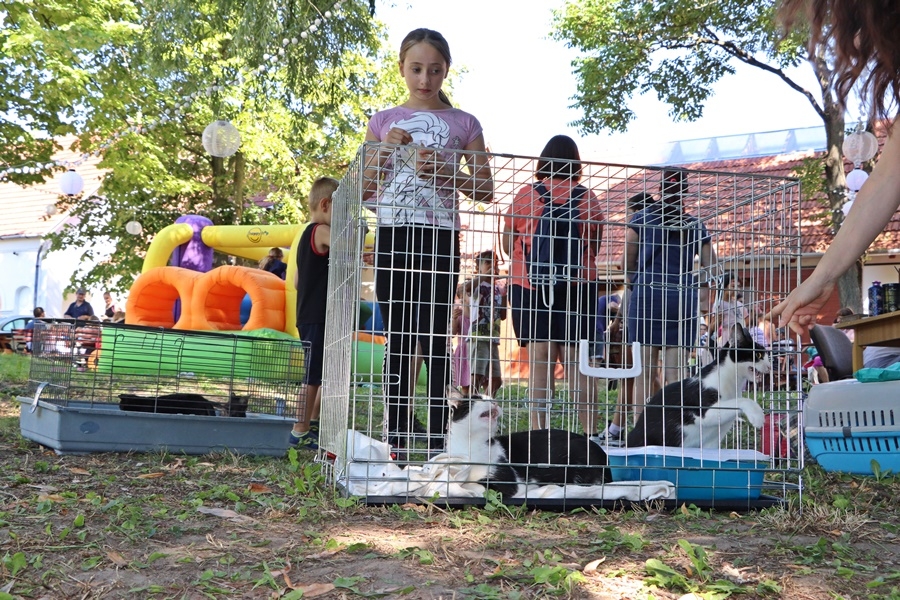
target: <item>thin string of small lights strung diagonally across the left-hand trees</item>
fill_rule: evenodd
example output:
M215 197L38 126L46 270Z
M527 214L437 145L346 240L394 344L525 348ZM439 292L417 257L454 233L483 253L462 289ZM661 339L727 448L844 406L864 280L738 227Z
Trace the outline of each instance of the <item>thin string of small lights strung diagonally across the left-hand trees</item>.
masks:
M310 34L315 34L315 33L319 32L321 30L322 25L324 23L326 23L328 20L330 20L332 18L332 16L338 16L337 13L338 13L338 11L341 10L341 8L342 8L341 5L342 5L343 1L344 0L338 0L337 2L334 3L334 6L332 6L332 10L326 10L324 13L319 13L320 17L314 19L312 21L312 23L310 23L309 26L306 28L306 30L302 31L300 33L299 39L297 37L282 39L281 40L282 47L279 48L276 52L274 52L272 54L268 54L268 53L264 54L263 55L263 64L257 66L254 69L251 69L251 71L250 71L251 74L252 75L262 75L269 69L269 66L272 66L272 67L277 66L279 59L281 57L283 57L285 54L284 49L288 45L296 46L297 44L300 43L301 39L306 40L309 38ZM267 65L266 63L271 63L271 65ZM108 139L106 139L104 142L102 142L97 147L97 149L95 149L91 152L84 152L81 155L79 155L78 158L76 158L74 160L55 160L55 161L46 162L46 163L37 162L37 161L29 161L29 162L21 163L20 165L17 165L17 166L7 165L7 166L3 167L2 169L0 169L0 181L8 180L9 175L16 175L16 174L38 175L45 171L51 171L52 169L55 169L58 167L64 167L66 169L72 170L75 167L78 167L78 166L84 164L86 161L90 160L92 157L100 156L102 151L104 151L107 148L109 148L110 146L112 146L117 140L119 140L123 136L131 134L131 133L141 134L141 133L145 133L146 131L152 131L159 125L165 124L165 123L167 123L171 120L174 120L174 119L178 118L179 116L183 115L184 111L186 109L190 108L190 106L193 104L193 101L196 100L197 98L200 98L202 96L211 96L214 93L220 92L220 91L226 89L227 87L234 85L236 83L240 83L242 81L243 81L242 75L240 73L237 73L233 79L227 81L224 84L210 85L203 90L198 90L195 92L191 92L190 94L185 94L184 96L182 96L181 98L179 98L175 101L173 108L164 110L162 112L162 114L159 116L159 118L152 120L152 121L148 121L147 123L145 123L143 125L131 125L121 131L117 131L116 133L112 134Z

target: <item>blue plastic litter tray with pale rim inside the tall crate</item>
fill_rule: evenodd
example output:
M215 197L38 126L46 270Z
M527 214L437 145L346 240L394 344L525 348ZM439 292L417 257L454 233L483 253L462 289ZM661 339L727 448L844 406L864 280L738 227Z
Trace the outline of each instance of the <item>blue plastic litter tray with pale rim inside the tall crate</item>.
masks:
M754 450L642 446L606 453L613 481L671 481L679 501L756 500L771 463Z

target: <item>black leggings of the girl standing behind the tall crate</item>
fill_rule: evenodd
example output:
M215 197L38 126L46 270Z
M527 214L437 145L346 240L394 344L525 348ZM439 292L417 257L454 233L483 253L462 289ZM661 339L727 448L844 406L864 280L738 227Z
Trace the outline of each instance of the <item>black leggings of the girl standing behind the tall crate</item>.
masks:
M410 373L416 342L428 366L429 433L447 425L450 383L447 330L459 277L459 235L452 229L379 227L375 251L375 295L387 330L384 355L389 432L408 433Z

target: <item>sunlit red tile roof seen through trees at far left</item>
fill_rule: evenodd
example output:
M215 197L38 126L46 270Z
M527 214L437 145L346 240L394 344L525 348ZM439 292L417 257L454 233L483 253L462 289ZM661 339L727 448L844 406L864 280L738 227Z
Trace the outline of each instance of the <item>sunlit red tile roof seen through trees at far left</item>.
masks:
M71 150L74 136L58 140L65 148L53 156L54 161L75 162L80 154ZM99 158L91 157L75 168L84 179L85 195L97 192L105 171L97 168ZM47 214L47 206L55 204L60 195L60 178L65 171L56 171L51 179L38 185L21 186L0 182L0 239L13 237L41 238L60 227L69 217L61 211Z

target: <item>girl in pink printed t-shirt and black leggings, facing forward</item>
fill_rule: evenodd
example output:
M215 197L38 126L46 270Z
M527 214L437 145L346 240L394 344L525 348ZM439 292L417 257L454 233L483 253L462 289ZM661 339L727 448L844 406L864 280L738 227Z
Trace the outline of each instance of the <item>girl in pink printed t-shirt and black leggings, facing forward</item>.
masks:
M447 329L459 274L457 202L460 193L491 201L493 180L481 124L453 108L441 90L450 68L444 37L410 32L399 67L409 98L369 120L363 198L378 214L375 295L387 334L388 442L408 447L408 434L419 428L409 385L418 343L428 365L429 442L438 449L447 424Z

